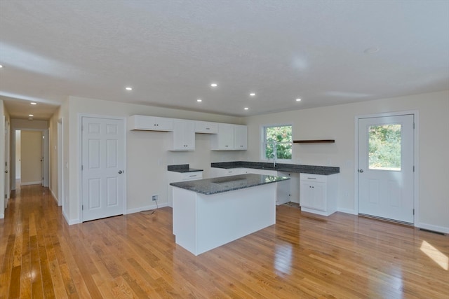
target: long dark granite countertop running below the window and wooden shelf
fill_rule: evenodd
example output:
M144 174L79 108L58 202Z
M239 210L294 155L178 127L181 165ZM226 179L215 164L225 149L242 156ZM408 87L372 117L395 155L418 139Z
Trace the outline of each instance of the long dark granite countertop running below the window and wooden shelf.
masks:
M276 163L276 167L273 167L273 162L247 162L247 161L233 161L233 162L213 162L210 163L210 167L217 168L254 168L254 169L267 169L276 170L279 172L297 172L304 174L338 174L340 173L340 167L332 166L315 166L315 165L300 165L300 164L283 164Z

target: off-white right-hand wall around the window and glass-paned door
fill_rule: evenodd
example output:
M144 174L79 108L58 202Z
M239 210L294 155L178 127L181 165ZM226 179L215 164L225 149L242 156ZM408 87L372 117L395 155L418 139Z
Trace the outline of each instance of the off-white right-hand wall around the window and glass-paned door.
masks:
M340 167L338 207L356 214L354 118L373 113L419 111L419 194L415 225L449 232L449 90L246 118L248 151L260 160L260 127L293 124L293 139L335 139L335 144L294 144L293 163Z

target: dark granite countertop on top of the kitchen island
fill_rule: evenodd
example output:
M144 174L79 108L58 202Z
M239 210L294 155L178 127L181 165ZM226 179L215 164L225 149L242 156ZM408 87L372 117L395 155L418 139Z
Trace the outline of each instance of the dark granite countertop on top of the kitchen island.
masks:
M182 181L170 183L170 185L189 191L194 191L196 193L212 195L232 190L260 186L266 183L276 183L287 179L290 178L286 176L266 176L264 174L240 174L237 176L222 176L213 179Z

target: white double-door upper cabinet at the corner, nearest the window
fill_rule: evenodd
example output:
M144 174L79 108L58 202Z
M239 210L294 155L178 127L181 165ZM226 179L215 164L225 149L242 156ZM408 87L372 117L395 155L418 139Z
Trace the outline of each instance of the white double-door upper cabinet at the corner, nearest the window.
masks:
M248 148L246 125L218 124L218 134L213 135L210 148L213 151L236 151Z

